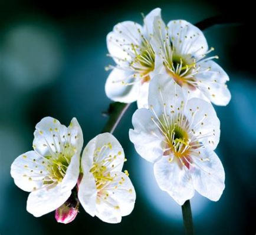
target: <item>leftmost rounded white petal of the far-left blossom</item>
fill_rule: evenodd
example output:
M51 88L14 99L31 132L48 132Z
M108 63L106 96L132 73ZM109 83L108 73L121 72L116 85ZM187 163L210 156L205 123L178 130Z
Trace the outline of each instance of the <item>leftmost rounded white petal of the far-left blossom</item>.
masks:
M14 183L24 191L33 191L43 186L43 178L48 174L44 165L45 159L28 151L19 155L11 166L11 176Z

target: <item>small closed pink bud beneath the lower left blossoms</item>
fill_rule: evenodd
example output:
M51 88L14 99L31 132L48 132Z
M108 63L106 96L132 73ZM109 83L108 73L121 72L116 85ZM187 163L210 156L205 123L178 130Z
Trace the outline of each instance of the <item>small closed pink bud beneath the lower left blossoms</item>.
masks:
M66 201L61 207L55 210L55 219L58 223L68 224L72 222L78 213L78 205L73 206Z

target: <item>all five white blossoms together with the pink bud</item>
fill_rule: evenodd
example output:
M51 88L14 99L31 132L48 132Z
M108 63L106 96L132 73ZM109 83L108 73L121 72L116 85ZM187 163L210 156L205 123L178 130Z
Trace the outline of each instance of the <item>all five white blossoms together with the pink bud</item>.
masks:
M111 100L137 101L129 131L137 153L154 163L159 187L180 205L195 190L216 201L225 173L214 150L220 123L211 102L227 105L229 78L212 59L204 34L183 20L166 26L156 8L141 26L125 21L107 35L116 62L106 82ZM68 127L43 118L35 127L33 151L15 159L11 176L28 196L27 211L36 217L55 210L69 223L81 204L91 216L119 223L134 208L136 194L124 151L110 134L99 134L83 150L76 118Z

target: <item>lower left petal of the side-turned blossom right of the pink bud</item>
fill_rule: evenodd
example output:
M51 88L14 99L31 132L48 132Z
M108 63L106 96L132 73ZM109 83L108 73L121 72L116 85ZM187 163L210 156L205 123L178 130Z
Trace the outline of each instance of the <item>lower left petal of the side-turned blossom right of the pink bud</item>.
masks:
M91 216L96 212L97 190L93 174L85 173L78 190L78 199L84 210Z

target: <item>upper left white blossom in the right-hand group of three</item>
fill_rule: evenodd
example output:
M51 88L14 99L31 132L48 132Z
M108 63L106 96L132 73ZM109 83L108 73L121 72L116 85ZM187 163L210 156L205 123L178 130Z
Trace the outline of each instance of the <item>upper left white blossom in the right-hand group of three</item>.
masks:
M105 91L113 101L130 103L138 107L147 104L149 81L155 69L155 52L150 44L153 21L160 15L156 8L146 15L143 27L132 21L114 26L107 35L110 57L116 62L107 78ZM156 72L156 69L155 69Z

